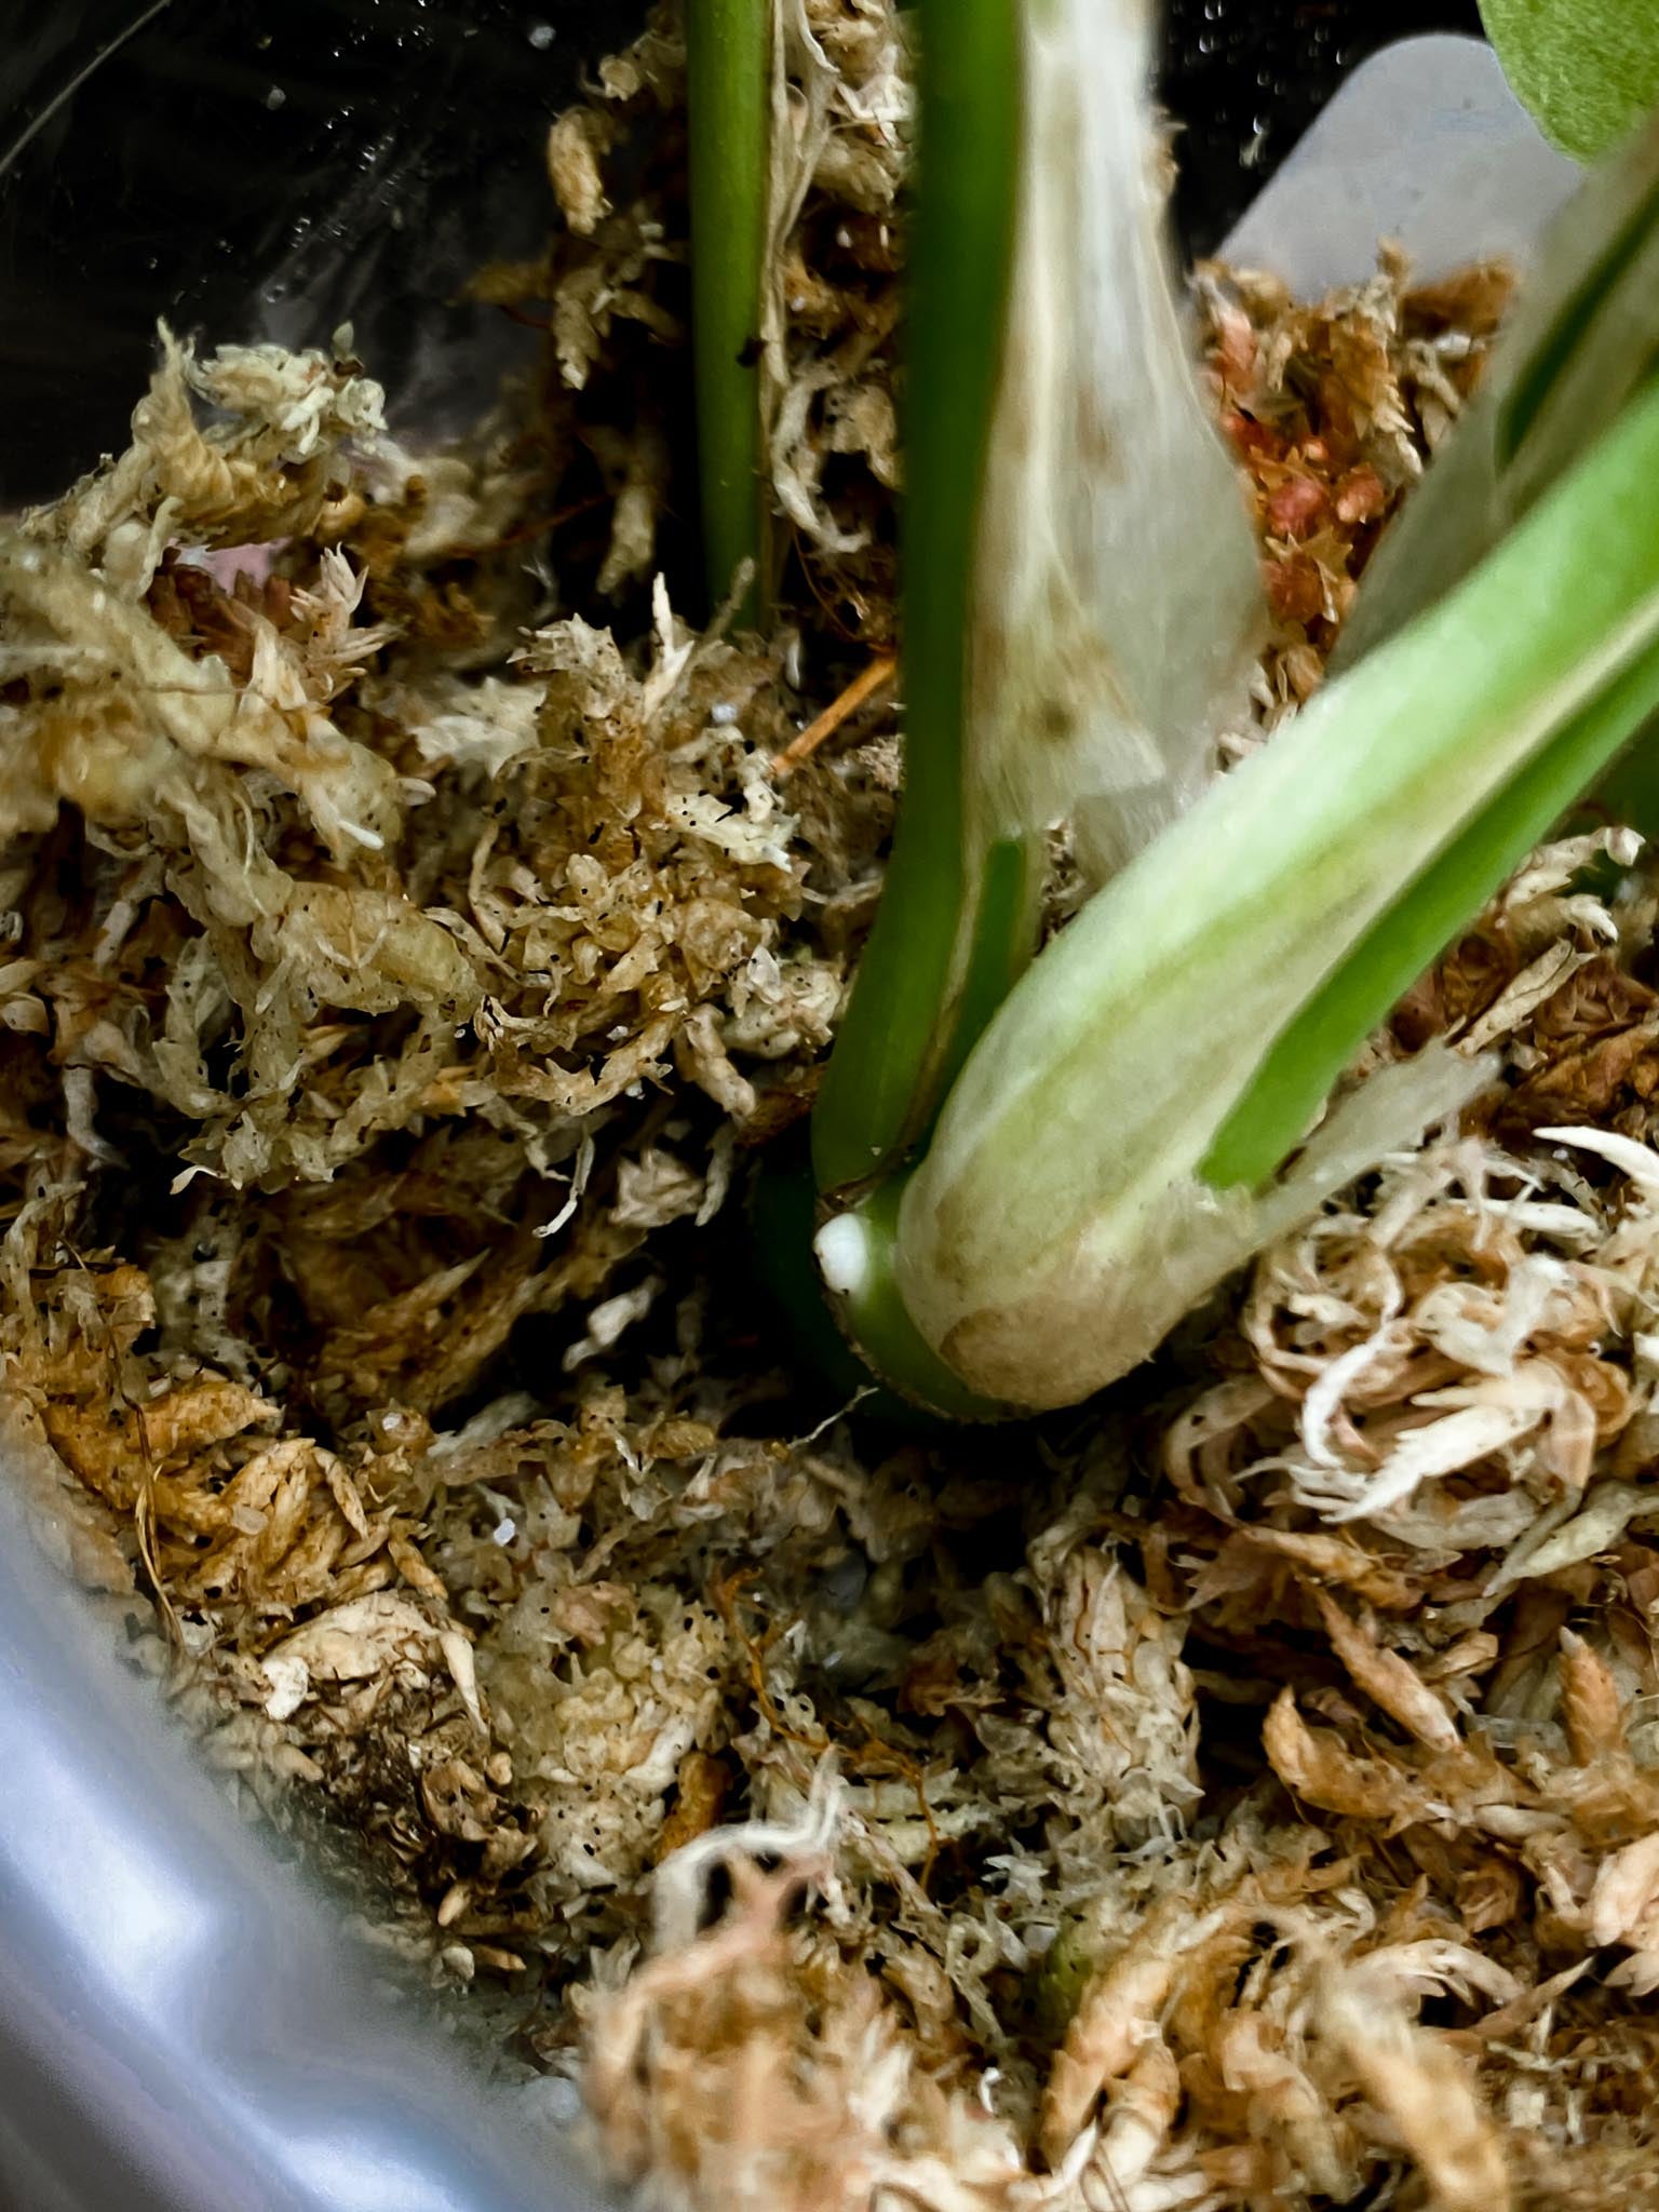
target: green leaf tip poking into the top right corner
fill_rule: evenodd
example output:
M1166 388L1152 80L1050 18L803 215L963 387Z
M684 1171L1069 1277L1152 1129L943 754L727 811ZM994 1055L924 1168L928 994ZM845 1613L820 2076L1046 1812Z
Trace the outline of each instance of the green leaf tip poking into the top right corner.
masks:
M1515 97L1593 161L1659 102L1659 0L1480 0Z

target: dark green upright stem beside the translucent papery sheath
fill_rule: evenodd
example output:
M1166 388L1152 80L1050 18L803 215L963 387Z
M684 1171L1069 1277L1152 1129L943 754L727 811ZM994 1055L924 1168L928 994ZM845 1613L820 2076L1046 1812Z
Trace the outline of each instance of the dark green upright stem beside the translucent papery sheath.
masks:
M905 312L905 796L858 987L812 1119L818 1186L927 1133L1033 945L1024 841L975 843L964 787L973 557L1002 374L1020 153L1020 9L922 0Z

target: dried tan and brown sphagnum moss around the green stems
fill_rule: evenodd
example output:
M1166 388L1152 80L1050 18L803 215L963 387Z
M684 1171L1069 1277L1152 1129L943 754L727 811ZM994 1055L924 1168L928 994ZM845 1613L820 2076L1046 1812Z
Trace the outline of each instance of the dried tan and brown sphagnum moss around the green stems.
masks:
M902 49L885 0L807 29L803 648L586 619L666 498L668 20L557 128L546 263L491 279L551 305L533 403L414 460L347 356L168 341L131 453L7 542L9 1467L155 1599L208 1756L361 1838L405 1949L511 1978L653 2203L1652 2201L1635 841L1542 852L1422 980L1371 1053L1447 1033L1502 1086L1267 1252L1157 1405L799 1436L710 1274L891 781L768 770L836 624L891 619ZM1270 723L1498 279L1203 303Z

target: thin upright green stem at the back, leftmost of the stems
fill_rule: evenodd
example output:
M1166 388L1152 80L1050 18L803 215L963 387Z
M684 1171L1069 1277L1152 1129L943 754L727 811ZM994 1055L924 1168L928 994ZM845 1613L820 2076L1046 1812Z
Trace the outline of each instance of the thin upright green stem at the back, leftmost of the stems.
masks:
M770 192L772 0L686 0L692 367L710 606L739 571L739 622L768 597L761 288Z

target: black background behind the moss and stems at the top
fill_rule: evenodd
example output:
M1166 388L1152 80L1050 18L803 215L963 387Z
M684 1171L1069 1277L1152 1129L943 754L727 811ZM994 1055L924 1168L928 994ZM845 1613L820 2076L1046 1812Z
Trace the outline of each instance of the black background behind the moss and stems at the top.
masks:
M0 0L0 509L124 442L157 314L250 336L261 294L303 296L294 343L349 316L427 429L440 394L467 411L456 363L487 392L511 334L451 292L533 250L546 119L644 4L164 0L124 35L144 13ZM1367 53L1449 29L1478 29L1475 0L1172 0L1190 248L1221 239Z

